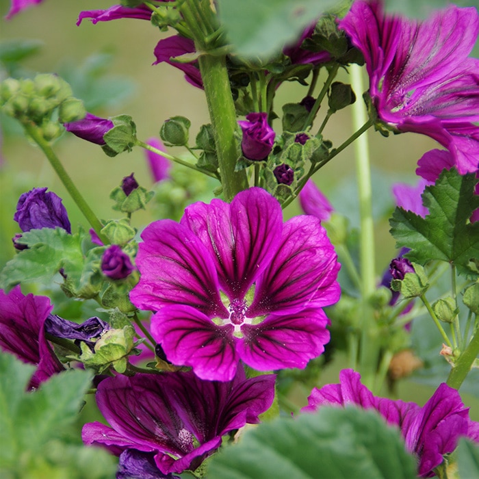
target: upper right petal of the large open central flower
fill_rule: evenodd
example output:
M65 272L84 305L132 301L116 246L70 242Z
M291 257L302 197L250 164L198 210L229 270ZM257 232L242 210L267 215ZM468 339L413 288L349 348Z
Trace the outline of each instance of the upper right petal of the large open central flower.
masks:
M339 299L338 270L337 255L320 220L296 216L283 225L277 253L258 279L255 299L246 315L298 311L311 300L318 300L319 305L325 295L327 305L331 305Z

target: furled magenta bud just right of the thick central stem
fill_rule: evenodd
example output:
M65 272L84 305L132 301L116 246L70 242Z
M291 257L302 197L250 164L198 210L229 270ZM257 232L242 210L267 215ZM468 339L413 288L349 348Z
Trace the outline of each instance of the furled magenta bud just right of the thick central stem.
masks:
M238 123L243 130L243 155L253 161L266 159L273 149L275 136L274 130L268 125L268 114L250 113L246 120Z

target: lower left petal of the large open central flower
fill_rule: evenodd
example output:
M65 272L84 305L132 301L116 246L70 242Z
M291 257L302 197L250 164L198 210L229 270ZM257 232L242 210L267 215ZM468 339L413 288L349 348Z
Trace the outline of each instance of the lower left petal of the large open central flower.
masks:
M162 309L151 318L151 334L176 365L192 366L208 380L231 380L238 357L233 325L218 326L189 306Z

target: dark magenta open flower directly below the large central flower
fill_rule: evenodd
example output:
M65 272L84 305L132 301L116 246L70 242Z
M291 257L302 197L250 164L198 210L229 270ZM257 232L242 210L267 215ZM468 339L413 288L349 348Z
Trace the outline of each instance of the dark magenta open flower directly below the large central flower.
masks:
M194 470L221 445L222 435L257 424L273 398L274 375L246 379L241 369L227 383L201 380L192 372L107 378L96 403L111 427L86 424L83 442L117 455L152 454L163 474Z

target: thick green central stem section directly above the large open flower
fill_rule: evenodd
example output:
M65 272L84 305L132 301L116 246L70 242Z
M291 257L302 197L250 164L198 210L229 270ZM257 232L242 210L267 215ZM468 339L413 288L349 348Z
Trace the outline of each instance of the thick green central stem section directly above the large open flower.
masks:
M199 57L198 63L215 137L224 199L231 201L235 194L248 188L248 179L245 170L235 171L238 159L235 139L237 122L226 60L205 54Z

